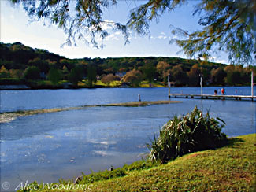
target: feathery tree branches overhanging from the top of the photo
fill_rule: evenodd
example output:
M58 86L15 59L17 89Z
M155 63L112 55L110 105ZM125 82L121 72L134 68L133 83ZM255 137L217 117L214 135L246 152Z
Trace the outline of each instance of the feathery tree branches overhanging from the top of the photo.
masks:
M188 0L147 0L139 2L130 10L126 24L103 19L104 10L117 5L117 0L10 0L22 3L32 20L49 20L58 25L67 35L67 44L83 39L98 47L96 37L104 39L111 31L121 31L128 42L129 31L140 35L149 34L150 22L162 14L175 11ZM190 57L209 57L214 51L228 52L229 60L235 64L254 65L256 61L256 1L252 0L201 0L195 7L199 14L198 24L202 30L188 32L173 26L173 39L184 54ZM107 28L106 28L107 26Z

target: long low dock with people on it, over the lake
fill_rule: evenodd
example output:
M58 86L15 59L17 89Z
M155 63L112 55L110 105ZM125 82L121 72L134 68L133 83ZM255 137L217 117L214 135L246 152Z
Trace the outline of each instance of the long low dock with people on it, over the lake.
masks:
M222 95L222 94L169 94L169 98L198 98L198 99L234 99L237 101L256 101L256 96L251 95Z

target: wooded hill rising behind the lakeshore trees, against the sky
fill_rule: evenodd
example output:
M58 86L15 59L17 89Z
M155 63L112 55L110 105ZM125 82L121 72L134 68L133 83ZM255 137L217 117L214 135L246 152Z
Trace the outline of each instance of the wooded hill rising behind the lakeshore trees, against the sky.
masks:
M29 64L29 61L39 58L43 61L56 62L59 67L61 65L61 60L65 59L69 62L79 64L80 62L87 62L88 64L97 65L102 71L106 72L118 72L125 71L132 68L139 68L144 65L145 61L150 61L154 65L157 65L159 61L166 61L170 65L184 65L184 69L187 71L192 65L198 63L197 60L183 59L179 57L114 57L114 58L83 58L83 59L68 59L58 54L50 53L48 50L43 49L33 49L29 46L24 46L20 42L3 43L0 42L0 61L1 65L4 65L6 69L25 69ZM217 68L219 66L224 66L218 63L209 63L210 68ZM101 71L99 69L99 71ZM98 74L102 75L102 74Z

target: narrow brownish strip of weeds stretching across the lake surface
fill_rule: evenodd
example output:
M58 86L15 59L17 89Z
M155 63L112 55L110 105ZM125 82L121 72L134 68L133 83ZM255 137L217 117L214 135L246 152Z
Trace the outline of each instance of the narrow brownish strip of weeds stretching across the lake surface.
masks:
M68 110L87 109L91 107L108 107L108 106L139 107L139 106L161 105L161 104L171 104L171 103L179 103L179 101L124 102L124 103L111 103L111 104L104 104L104 105L83 105L83 106L77 106L77 107L55 108L55 109L20 110L15 112L0 113L0 123L10 122L11 120L14 120L20 116L32 116L32 115L42 114L42 113L56 113L56 112L68 111Z

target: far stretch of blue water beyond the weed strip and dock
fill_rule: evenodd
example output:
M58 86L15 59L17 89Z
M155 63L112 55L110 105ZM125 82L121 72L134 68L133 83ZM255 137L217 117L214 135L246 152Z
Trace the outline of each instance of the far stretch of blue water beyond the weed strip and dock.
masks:
M226 94L250 95L250 87L225 87ZM221 87L205 87L203 94L213 94ZM172 93L200 94L199 87L172 88ZM254 87L256 94L256 87ZM107 88L79 90L1 90L0 112L24 109L50 109L80 105L96 105L137 101L166 100L167 88Z

